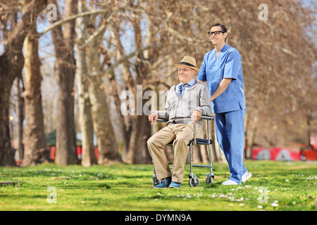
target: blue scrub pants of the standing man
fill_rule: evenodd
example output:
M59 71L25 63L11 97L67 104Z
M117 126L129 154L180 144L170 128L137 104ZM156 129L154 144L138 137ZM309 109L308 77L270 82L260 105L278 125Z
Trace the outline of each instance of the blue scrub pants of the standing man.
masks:
M229 179L237 184L247 172L243 164L244 115L245 109L215 115L217 141L228 161Z

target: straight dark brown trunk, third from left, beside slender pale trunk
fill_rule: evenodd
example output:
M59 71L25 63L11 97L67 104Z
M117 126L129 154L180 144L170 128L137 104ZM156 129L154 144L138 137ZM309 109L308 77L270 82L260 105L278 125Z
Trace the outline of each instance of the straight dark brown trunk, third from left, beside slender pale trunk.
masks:
M54 1L56 4L56 1ZM65 16L75 14L75 1L66 1ZM72 11L73 10L73 11ZM59 17L59 13L57 12ZM56 125L56 164L78 164L74 122L75 59L73 53L75 21L65 24L64 33L58 26L51 30L55 49L55 77L58 84Z

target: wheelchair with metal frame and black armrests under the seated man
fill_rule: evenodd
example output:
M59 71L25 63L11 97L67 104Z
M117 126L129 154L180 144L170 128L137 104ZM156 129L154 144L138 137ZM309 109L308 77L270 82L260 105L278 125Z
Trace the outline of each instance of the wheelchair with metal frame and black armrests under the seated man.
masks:
M214 180L214 174L213 174L213 161L211 157L211 144L213 141L211 140L210 136L210 122L213 120L213 117L210 115L201 115L200 120L206 120L207 121L207 139L199 139L196 137L196 124L197 122L194 122L194 139L189 141L188 146L189 146L189 162L186 162L186 164L190 165L190 172L189 172L189 186L191 187L198 187L199 186L199 179L198 177L193 173L193 167L207 167L209 168L209 174L206 174L206 184L213 184ZM166 120L158 119L156 122L168 122ZM154 131L154 124L151 124L151 135L153 136L155 133ZM173 140L174 141L174 140ZM173 148L173 141L170 141L166 146L172 146ZM200 146L200 145L206 145L208 147L208 154L209 154L209 160L210 164L209 165L194 165L193 164L193 157L192 157L192 146ZM153 162L153 161L152 161ZM169 162L169 165L173 165L173 162ZM170 169L173 169L173 167L170 167ZM154 168L154 174L152 175L153 179L153 186L156 186L160 183L159 179L157 179L155 168Z

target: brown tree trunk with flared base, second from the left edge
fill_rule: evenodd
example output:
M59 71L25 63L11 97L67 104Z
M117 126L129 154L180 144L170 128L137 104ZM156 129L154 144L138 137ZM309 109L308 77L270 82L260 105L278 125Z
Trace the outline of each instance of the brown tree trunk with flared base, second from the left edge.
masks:
M23 11L27 11L23 6ZM44 134L44 116L42 108L40 60L38 53L37 24L33 23L25 37L25 151L22 166L49 162L49 150L46 148Z

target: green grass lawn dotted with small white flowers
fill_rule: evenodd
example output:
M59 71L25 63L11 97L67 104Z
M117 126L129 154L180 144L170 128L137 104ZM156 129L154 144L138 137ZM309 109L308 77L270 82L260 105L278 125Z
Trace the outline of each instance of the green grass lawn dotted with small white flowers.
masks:
M152 165L67 167L0 167L0 181L20 181L0 187L0 210L316 210L316 162L247 161L253 174L245 184L221 186L228 165L215 163L215 181L207 185L208 169L194 168L199 187L152 188ZM50 189L53 188L53 189ZM56 203L48 197L56 191ZM54 200L54 198L49 198Z

